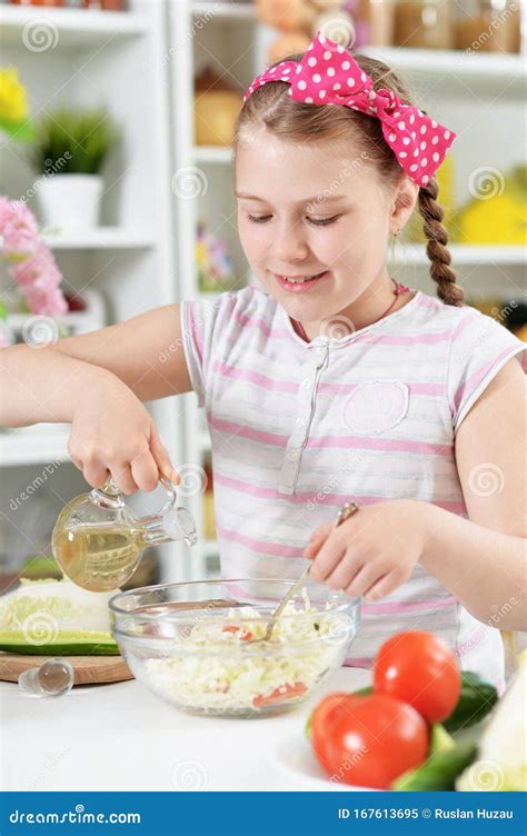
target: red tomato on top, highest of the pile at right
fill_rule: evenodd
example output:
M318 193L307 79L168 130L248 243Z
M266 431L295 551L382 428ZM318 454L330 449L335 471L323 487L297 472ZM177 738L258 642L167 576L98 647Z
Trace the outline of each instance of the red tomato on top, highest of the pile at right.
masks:
M385 641L374 667L374 690L409 703L428 723L454 711L461 675L448 645L431 633L398 633Z

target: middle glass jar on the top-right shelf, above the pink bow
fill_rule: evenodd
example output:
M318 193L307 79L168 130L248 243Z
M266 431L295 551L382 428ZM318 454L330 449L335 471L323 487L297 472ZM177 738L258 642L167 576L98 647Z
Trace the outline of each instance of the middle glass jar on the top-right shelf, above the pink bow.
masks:
M394 43L412 49L451 49L451 3L445 0L398 0Z

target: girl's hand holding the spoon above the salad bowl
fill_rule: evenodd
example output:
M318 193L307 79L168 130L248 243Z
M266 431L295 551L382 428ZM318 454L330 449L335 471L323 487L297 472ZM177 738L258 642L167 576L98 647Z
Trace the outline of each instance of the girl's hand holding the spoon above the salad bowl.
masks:
M426 509L426 502L395 499L360 507L338 528L326 522L304 551L312 560L310 577L350 597L378 600L390 595L425 553Z

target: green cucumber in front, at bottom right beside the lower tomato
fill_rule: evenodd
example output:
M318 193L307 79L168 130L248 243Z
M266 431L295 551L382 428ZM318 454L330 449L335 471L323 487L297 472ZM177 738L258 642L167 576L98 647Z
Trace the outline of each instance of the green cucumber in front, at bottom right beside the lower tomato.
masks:
M476 754L477 746L473 740L439 749L416 769L399 775L391 789L405 793L455 789L457 776L473 763Z

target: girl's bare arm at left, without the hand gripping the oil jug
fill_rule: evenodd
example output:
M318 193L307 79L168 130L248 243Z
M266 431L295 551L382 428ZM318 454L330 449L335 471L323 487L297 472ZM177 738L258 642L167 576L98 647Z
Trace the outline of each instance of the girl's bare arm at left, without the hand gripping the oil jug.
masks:
M2 349L0 426L71 421L79 391L97 391L112 377L141 401L191 390L179 305L68 337L48 348Z

